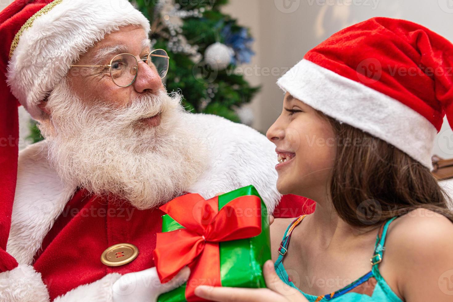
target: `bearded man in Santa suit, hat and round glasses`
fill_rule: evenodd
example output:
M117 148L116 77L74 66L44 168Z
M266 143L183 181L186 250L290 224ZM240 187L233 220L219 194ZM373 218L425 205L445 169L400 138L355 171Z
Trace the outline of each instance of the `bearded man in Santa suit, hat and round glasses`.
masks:
M276 216L309 211L277 192L265 136L165 91L149 30L127 0L1 12L0 300L114 300L121 275L154 267L158 206L186 192L253 184ZM19 156L18 101L45 138Z

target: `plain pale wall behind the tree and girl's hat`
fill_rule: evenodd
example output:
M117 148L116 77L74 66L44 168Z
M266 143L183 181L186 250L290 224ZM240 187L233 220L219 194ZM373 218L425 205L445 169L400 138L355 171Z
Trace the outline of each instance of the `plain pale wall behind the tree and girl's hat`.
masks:
M0 0L0 10L11 2ZM283 93L276 80L309 49L348 25L374 16L408 19L453 41L452 0L230 0L224 11L250 27L255 38L256 55L241 68L252 85L262 85L249 105L253 127L261 132L280 114ZM25 135L26 117L21 115ZM453 131L446 121L434 153L453 158Z

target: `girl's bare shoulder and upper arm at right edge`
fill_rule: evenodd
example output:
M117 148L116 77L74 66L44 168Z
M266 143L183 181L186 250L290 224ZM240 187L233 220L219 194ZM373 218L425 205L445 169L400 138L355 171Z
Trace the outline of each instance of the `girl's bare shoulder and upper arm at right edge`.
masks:
M442 274L453 268L452 252L453 223L442 214L420 208L390 224L380 270L410 300L415 297L407 295L440 289L438 280L441 282Z

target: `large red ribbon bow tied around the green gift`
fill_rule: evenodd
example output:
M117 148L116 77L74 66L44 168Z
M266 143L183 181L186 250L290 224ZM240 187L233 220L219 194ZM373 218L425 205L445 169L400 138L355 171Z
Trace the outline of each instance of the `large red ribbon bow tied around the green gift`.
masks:
M166 283L188 265L187 301L206 301L195 296L198 285L222 286L219 242L261 233L261 200L255 195L237 197L219 211L218 197L205 200L198 194L186 194L160 210L185 229L157 233L153 252L157 273Z

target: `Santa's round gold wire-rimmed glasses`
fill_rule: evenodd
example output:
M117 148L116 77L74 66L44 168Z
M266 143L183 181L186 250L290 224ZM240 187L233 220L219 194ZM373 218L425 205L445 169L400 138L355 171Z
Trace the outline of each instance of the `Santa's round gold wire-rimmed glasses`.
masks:
M138 62L147 61L148 66L156 70L160 78L163 79L167 75L169 69L169 59L170 57L164 49L155 49L150 52L145 59L137 60L133 54L120 53L113 57L108 65L71 65L71 67L109 68L110 77L115 85L127 87L132 85L137 77Z

